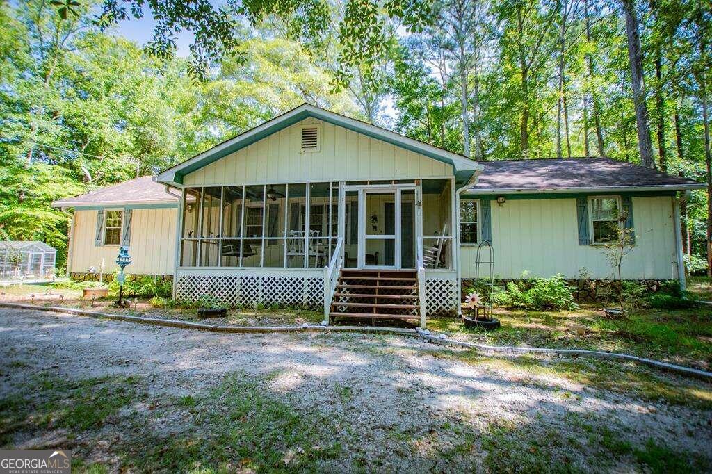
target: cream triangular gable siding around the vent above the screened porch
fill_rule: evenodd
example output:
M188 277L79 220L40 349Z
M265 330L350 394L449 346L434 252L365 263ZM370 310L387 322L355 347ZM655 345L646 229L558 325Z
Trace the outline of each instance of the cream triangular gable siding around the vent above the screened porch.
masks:
M317 152L302 152L301 127L320 125ZM187 174L184 186L452 177L450 164L344 127L308 118Z

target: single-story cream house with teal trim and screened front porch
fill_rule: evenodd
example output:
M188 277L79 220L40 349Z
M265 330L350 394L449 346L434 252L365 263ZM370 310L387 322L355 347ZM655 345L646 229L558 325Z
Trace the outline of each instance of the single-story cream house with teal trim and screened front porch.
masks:
M679 199L703 188L612 159L475 162L304 104L54 205L74 209L72 275L124 245L127 272L172 275L178 298L424 318L458 310L484 241L498 278L609 278L601 247L624 226L624 278L682 280Z

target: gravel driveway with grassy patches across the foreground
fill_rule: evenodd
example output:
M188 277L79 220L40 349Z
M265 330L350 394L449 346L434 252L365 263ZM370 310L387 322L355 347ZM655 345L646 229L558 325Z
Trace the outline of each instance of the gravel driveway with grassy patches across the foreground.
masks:
M0 342L0 448L69 448L84 468L710 469L711 411L540 369L562 359L468 362L414 337L221 335L4 308ZM79 382L118 379L124 398L100 416L67 415ZM169 459L162 443L179 441Z

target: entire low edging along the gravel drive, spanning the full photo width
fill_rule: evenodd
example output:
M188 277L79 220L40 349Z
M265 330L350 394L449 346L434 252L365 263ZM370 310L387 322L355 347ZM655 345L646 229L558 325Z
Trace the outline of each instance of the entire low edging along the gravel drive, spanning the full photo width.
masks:
M562 356L582 356L594 357L596 359L626 360L637 362L656 369L680 374L696 376L701 379L712 380L712 372L706 372L692 367L684 367L676 364L668 364L654 359L637 357L630 354L619 354L617 352L590 351L585 349L551 349L548 347L514 347L514 346L488 346L486 344L473 344L471 342L461 342L448 339L444 334L439 336L431 335L428 330L416 328L414 330L399 327L375 327L375 326L322 326L322 325L302 325L302 326L213 326L204 325L199 322L187 322L178 320L162 320L154 317L117 315L108 312L78 310L72 307L61 306L37 306L23 303L0 302L0 307L14 307L19 310L39 310L48 312L61 312L70 315L98 317L110 320L140 322L144 324L179 327L182 329L193 329L210 332L232 332L232 333L270 333L270 332L377 332L382 334L417 335L425 342L439 344L443 346L466 347L476 349L480 352L495 354L553 354Z

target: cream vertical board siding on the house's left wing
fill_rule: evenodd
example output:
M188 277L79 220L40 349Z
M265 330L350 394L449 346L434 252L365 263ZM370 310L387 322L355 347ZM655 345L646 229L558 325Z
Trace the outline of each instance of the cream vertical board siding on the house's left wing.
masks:
M134 275L172 275L175 262L176 223L175 207L134 209L131 222L129 253L132 263L126 273ZM97 211L77 209L72 229L70 273L87 273L90 267L98 270L104 259L104 273L118 269L115 261L119 246L95 246Z

